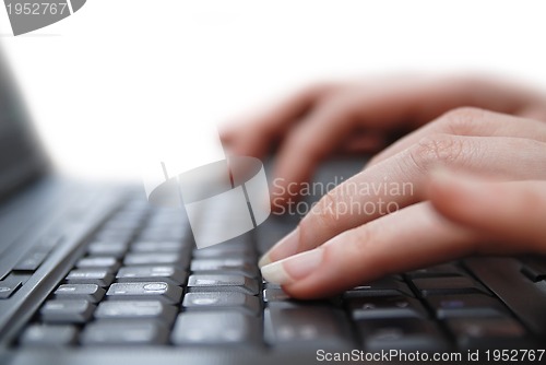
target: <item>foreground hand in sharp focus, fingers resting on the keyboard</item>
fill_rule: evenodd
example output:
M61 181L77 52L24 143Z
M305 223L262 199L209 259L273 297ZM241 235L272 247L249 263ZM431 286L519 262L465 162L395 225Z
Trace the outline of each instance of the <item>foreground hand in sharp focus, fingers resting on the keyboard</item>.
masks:
M381 184L399 189L363 188ZM391 211L369 209L381 202ZM546 125L461 108L327 193L260 264L292 296L320 297L475 252L546 254L545 217Z

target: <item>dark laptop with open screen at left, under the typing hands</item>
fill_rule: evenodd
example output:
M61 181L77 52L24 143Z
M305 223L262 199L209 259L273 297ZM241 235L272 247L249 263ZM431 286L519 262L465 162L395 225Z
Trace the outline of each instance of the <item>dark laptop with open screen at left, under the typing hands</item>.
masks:
M150 205L140 184L60 178L23 110L0 60L1 364L546 360L544 258L468 258L294 301L257 262L299 216L197 249L185 211ZM360 166L330 161L316 179Z

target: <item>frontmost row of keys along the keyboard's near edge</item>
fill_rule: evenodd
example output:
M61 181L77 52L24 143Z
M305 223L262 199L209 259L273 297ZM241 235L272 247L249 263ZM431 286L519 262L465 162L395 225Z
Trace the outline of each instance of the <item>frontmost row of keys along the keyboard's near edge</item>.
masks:
M75 306L75 305L74 305ZM81 305L82 313L88 308ZM105 302L97 320L87 325L81 335L84 344L142 344L168 341L168 325L175 307L161 302ZM264 314L265 342L271 345L321 345L343 348L352 344L348 322L340 309L327 306L276 303ZM136 319L135 319L136 318ZM132 323L128 326L128 323ZM423 318L376 318L356 320L356 329L367 351L389 349L441 351L448 342L437 323ZM525 331L511 318L449 319L447 326L462 349L486 345L514 345L526 341ZM68 330L72 328L72 330ZM50 329L63 343L73 343L73 327L36 325L27 329L23 343L39 342L35 332ZM62 330L61 330L62 329ZM134 333L138 332L140 334ZM72 334L71 334L72 333ZM185 311L178 315L170 341L175 344L249 343L261 338L259 317L240 311ZM71 334L71 335L69 335ZM50 334L51 337L51 334ZM502 342L505 340L505 342ZM47 341L54 341L48 338Z

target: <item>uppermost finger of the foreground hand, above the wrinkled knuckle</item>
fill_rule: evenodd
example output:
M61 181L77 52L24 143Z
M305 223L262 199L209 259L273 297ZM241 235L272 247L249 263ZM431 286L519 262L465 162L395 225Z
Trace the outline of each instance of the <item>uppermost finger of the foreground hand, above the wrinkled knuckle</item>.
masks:
M376 155L367 167L380 163L432 133L474 137L514 137L546 142L543 121L477 108L458 108L400 139Z

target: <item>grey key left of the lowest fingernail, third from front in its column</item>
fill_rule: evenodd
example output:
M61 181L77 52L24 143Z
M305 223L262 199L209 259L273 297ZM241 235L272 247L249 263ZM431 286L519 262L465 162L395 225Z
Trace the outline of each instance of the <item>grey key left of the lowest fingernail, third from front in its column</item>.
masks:
M258 282L245 275L193 274L188 280L189 292L239 292L257 295Z

